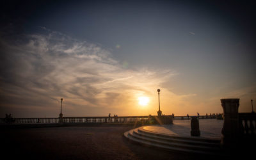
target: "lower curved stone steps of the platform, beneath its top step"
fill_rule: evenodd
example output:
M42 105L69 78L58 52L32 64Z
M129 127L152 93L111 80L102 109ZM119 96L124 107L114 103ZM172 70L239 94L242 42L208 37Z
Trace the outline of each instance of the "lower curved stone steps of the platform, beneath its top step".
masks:
M193 145L191 141L189 141L188 143L185 143L188 140L182 141L181 138L179 141L172 141L170 140L170 138L169 139L166 139L166 137L161 138L159 135L148 136L147 134L140 133L138 129L132 129L130 131L127 131L124 133L124 136L136 143L143 143L145 145L164 148L164 149L172 150L175 152L187 152L187 153L193 153L193 154L212 154L212 155L217 155L221 153L220 147L216 147L216 146L209 147L207 145L206 146L202 145L204 143L200 143L200 145L198 144Z

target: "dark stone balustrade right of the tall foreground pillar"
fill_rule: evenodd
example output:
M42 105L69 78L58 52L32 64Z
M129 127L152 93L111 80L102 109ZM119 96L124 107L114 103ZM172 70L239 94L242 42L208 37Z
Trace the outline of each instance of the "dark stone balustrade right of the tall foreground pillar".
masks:
M255 136L256 113L238 113L239 133L241 136Z

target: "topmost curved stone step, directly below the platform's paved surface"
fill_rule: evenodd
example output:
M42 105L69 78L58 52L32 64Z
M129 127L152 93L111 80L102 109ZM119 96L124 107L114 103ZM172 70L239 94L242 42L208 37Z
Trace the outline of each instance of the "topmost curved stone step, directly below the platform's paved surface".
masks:
M161 141L168 141L171 143L182 143L182 144L188 144L188 145L196 145L196 146L205 146L205 147L215 147L220 148L220 143L211 143L207 141L196 141L196 140L190 140L190 139L182 139L182 138L172 138L170 137L164 137L164 136L156 136L154 134L147 134L145 132L140 132L138 130L133 131L133 134L137 134L138 136L142 136L145 138L152 138L154 140L161 140Z

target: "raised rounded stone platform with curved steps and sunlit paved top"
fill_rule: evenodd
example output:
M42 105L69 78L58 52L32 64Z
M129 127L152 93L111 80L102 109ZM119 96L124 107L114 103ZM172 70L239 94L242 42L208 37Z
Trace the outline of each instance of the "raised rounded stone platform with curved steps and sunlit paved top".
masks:
M147 125L124 132L135 143L189 154L220 155L223 121L200 120L201 136L190 135L190 120L177 120L172 125Z

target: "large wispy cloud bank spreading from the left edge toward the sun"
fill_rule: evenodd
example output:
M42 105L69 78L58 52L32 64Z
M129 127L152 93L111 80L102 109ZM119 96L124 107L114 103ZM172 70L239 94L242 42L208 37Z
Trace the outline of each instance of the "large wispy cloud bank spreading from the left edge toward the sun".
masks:
M131 70L100 45L54 31L22 40L0 41L3 108L52 111L61 97L76 115L89 108L122 108L135 95L153 94L175 75L172 70Z

